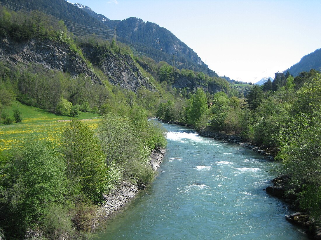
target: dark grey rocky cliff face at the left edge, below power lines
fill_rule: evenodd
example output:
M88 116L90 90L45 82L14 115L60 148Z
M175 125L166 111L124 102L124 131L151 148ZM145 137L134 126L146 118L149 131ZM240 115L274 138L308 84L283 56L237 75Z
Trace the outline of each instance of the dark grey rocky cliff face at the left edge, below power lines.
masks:
M84 74L94 83L101 83L99 76L91 70L79 53L72 51L69 44L51 40L29 40L16 42L0 38L0 58L11 64L30 62L53 70L68 72L72 76Z

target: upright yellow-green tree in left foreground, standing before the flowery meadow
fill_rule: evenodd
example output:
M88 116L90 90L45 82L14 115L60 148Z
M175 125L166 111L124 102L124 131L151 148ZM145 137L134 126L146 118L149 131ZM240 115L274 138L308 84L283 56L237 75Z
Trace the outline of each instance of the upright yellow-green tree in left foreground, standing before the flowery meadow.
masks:
M106 190L108 172L98 138L87 125L74 119L65 128L63 136L67 191L72 194L78 185L84 196L100 202Z

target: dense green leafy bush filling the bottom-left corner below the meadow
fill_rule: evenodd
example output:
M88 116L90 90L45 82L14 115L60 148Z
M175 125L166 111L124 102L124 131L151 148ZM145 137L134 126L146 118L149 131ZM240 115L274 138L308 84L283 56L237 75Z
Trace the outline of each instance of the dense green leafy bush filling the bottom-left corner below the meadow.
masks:
M62 200L64 161L51 144L30 139L9 157L12 162L1 182L8 189L1 205L6 237L23 235L27 226L41 217L48 204Z

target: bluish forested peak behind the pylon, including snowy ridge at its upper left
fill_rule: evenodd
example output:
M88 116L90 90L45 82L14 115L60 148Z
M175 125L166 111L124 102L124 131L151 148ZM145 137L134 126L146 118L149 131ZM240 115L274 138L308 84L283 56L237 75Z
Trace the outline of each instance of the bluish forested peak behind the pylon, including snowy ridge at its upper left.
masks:
M209 76L218 76L201 60L190 47L179 40L166 28L153 22L130 17L126 20L109 20L107 17L93 12L91 8L79 3L74 6L87 12L103 22L109 29L117 29L117 40L128 44L138 55L152 58L156 62L165 61L177 68L193 69Z

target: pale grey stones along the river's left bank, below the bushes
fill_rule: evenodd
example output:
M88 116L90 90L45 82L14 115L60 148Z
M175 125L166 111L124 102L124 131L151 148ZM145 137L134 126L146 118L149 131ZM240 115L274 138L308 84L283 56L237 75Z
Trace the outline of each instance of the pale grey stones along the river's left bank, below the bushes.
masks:
M154 171L160 167L160 163L165 155L165 148L156 148L150 155L150 165ZM104 202L100 206L97 217L99 221L107 220L123 209L130 200L138 193L138 190L146 188L143 184L133 184L121 182L117 188L104 195Z

